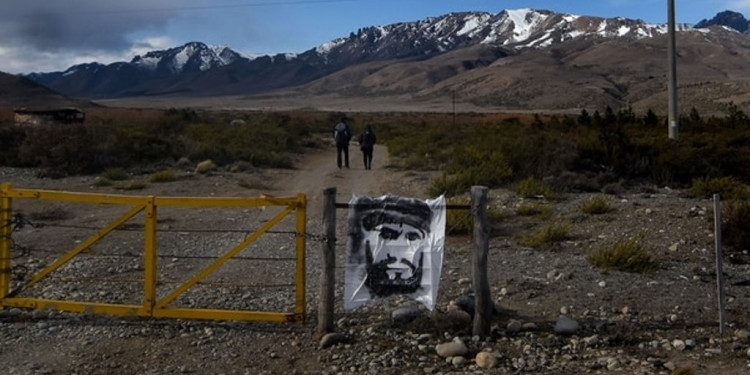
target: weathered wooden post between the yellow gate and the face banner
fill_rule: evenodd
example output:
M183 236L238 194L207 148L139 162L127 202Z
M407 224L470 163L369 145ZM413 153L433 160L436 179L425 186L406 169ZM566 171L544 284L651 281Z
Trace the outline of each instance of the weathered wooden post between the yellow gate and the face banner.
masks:
M321 246L323 270L318 297L318 335L333 332L333 304L336 286L336 188L323 191L323 222L326 240Z

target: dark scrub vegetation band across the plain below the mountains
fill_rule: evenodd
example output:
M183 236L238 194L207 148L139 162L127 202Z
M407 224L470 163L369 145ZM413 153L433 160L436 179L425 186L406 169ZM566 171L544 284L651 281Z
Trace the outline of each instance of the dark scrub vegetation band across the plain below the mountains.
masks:
M607 107L572 115L242 112L194 109L91 108L82 124L20 127L0 117L0 163L37 168L41 175L99 175L101 184L139 189L127 180L151 175L170 181L173 168L197 170L210 161L233 171L294 168L295 155L331 142L331 127L347 116L354 134L371 125L385 144L389 168L436 171L426 193L459 197L473 185L504 187L544 206L518 207L519 216L549 218L566 193L618 194L639 186L684 189L727 201L727 241L747 247L750 229L750 118L729 104L725 116L680 119L680 139L667 137L652 111ZM241 166L242 168L240 168ZM581 211L612 210L602 196ZM464 220L452 218L456 230ZM467 231L468 228L463 228ZM527 246L565 238L551 225L524 239Z

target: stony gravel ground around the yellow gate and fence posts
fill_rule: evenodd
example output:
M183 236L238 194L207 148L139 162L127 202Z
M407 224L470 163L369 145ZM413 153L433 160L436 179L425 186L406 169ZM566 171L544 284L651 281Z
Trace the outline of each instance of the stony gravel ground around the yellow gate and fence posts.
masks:
M375 168L376 170L378 168ZM256 172L257 173L257 172ZM271 173L271 172L268 172ZM383 172L386 173L386 172ZM424 184L418 173L387 171L385 183ZM270 176L270 177L269 177ZM261 179L273 175L260 176ZM135 194L165 194L189 184L191 195L252 195L237 191L236 181L259 178L251 174L186 173L176 183L149 186ZM0 180L14 186L72 191L114 192L94 188L95 177L62 180L36 178L33 171L0 169ZM182 185L180 185L182 184ZM222 191L224 186L230 190ZM317 187L316 187L317 188ZM110 190L106 190L110 189ZM320 189L322 190L322 189ZM184 194L184 190L182 191ZM406 192L408 193L408 192ZM450 236L446 243L437 307L424 307L391 298L354 311L343 311L337 301L335 333L315 332L319 242L308 241L307 313L303 323L265 323L145 319L65 313L56 310L8 308L0 312L0 363L6 374L673 374L750 372L750 279L746 264L726 264L727 332L718 332L714 275L711 202L686 198L677 190L652 188L608 196L611 213L588 216L580 203L590 194L570 195L546 202L560 222L572 223L568 240L545 249L523 248L520 233L538 225L535 218L517 217L514 208L527 202L507 190L490 191L490 202L504 219L490 243L490 288L496 304L489 337L471 333L471 314L465 297L471 293L471 238ZM318 203L311 199L308 231L322 233L316 218ZM15 203L14 203L15 207ZM30 252L14 258L29 272L40 269L56 254L83 238L48 237L55 224L96 225L101 212L58 206L69 217L45 222L47 227L25 227L14 232L17 245ZM19 205L19 208L21 206ZM23 208L27 215L46 212ZM172 230L160 240L170 257L160 258L165 277L179 280L200 269L186 256L218 254L243 234L196 236L189 224L211 223L226 228L257 223L267 213L239 212L169 218L160 225ZM160 211L160 215L162 212ZM345 233L343 223L338 233ZM250 224L248 224L250 225ZM63 282L34 291L42 298L106 300L140 303L140 287L115 283L142 272L138 231L125 233L99 249L116 259L83 257L61 271ZM59 236L57 236L59 235ZM128 236L134 236L129 238ZM290 251L279 245L286 234L275 234L259 245L259 254ZM586 260L588 251L619 238L639 238L659 269L648 274L600 272ZM131 243L131 241L135 241ZM338 246L343 249L344 241ZM173 246L170 248L170 246ZM49 250L48 252L42 251ZM100 254L101 255L101 254ZM129 255L129 256L126 256ZM337 254L343 264L343 254ZM213 281L254 283L288 272L286 266L264 264L262 271L235 265ZM68 281L84 276L97 282ZM341 280L343 269L337 269ZM57 279L56 279L57 280ZM282 280L288 281L288 280ZM112 287L113 285L122 285ZM336 295L343 295L337 285ZM283 288L264 290L198 288L181 303L243 309L289 308L293 300ZM464 306L462 308L462 306ZM683 371L683 372L680 372Z

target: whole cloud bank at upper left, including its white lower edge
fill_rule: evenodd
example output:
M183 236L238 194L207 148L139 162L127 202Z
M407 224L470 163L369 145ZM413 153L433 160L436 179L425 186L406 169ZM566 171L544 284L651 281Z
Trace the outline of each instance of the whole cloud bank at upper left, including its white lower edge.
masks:
M208 0L193 0L191 5ZM129 61L137 54L173 47L154 37L180 16L184 0L23 0L0 12L0 71L65 70L87 62ZM134 38L133 35L140 38ZM148 37L144 37L147 35Z

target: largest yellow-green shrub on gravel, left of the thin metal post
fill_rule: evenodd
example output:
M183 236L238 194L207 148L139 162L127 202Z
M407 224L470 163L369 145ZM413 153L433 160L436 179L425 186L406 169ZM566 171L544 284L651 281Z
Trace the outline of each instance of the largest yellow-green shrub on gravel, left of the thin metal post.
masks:
M635 240L619 240L611 247L589 252L588 262L603 271L644 273L656 268L646 250Z

